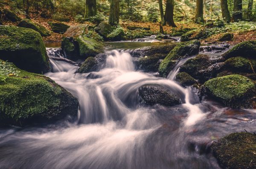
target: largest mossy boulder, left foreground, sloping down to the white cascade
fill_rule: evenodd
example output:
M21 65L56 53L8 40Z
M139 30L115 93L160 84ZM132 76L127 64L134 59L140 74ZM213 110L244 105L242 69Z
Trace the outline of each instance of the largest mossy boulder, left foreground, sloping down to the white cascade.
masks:
M26 125L76 115L78 100L49 77L0 60L0 123Z

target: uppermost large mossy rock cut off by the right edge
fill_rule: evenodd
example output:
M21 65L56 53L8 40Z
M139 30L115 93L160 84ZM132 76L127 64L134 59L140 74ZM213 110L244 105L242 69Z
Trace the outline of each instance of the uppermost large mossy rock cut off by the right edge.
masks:
M222 55L225 59L237 56L256 59L256 40L241 42Z

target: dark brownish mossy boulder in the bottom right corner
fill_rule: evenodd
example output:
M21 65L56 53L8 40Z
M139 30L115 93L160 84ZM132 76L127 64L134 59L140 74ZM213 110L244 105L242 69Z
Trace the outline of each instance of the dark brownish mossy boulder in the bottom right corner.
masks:
M213 142L211 148L226 169L256 168L256 135L253 133L232 133Z

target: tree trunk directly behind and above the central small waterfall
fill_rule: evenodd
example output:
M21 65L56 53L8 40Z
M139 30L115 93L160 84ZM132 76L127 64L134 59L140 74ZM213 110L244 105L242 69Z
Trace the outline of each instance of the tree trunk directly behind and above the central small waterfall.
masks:
M119 24L119 0L111 0L108 23L111 25Z

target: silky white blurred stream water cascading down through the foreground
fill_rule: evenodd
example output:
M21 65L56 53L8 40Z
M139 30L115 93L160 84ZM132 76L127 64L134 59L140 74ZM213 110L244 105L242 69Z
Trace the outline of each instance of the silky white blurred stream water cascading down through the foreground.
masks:
M50 57L64 57L48 49ZM99 72L52 60L45 74L79 99L78 120L0 130L2 169L218 169L209 145L231 132L255 132L256 111L201 102L168 78L135 70L128 52L106 52ZM143 84L163 85L180 97L173 107L140 103Z

